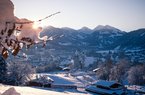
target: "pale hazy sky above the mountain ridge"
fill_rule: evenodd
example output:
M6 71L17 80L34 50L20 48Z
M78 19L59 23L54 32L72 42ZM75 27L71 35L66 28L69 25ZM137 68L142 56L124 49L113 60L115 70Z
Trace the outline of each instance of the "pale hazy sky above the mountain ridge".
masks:
M19 18L38 20L54 27L79 29L111 25L124 31L145 28L145 0L11 0Z

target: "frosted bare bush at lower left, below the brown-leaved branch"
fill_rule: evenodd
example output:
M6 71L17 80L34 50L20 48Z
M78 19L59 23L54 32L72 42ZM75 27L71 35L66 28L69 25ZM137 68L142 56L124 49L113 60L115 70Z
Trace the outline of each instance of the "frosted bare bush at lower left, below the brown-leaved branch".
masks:
M8 83L12 85L24 85L35 73L35 69L27 63L9 63L7 69Z

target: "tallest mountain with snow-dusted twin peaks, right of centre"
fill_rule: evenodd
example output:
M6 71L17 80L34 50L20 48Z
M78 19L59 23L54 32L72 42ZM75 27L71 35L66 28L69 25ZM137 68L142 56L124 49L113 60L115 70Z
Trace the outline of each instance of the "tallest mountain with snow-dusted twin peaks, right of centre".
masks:
M98 49L106 49L113 45L114 41L122 37L126 32L117 28L106 25L99 25L94 29L94 32L88 36L86 41Z

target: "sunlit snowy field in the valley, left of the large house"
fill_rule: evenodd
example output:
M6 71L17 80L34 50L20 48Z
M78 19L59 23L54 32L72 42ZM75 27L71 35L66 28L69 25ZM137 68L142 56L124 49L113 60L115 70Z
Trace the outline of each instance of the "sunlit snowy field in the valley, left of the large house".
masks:
M54 80L54 84L76 85L77 87L81 88L95 81L94 78L81 71L78 71L77 73L73 72L73 74L61 72L53 74L43 73L39 75L47 75Z

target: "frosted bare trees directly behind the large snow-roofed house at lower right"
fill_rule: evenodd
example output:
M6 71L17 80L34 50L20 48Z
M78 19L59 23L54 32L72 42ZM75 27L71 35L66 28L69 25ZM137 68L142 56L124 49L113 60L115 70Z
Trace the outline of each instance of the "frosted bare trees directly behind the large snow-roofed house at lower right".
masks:
M123 83L127 80L128 70L131 64L126 59L120 59L116 64L113 64L110 59L106 60L97 71L97 77L103 80L113 80Z

